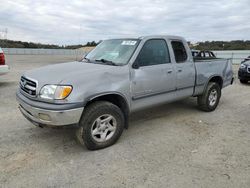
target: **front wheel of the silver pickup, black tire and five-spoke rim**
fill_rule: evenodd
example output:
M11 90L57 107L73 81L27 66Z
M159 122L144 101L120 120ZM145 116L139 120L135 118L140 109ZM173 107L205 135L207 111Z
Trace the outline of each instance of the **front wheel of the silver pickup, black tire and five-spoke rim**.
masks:
M77 140L89 150L97 150L116 143L123 132L125 119L118 106L97 101L86 107L79 125Z

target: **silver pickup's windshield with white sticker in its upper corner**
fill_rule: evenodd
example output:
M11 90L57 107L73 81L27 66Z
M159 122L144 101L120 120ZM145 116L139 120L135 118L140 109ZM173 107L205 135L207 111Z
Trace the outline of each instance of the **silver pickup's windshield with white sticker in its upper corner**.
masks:
M101 42L85 59L92 63L112 62L115 65L125 65L134 53L138 39L111 39Z

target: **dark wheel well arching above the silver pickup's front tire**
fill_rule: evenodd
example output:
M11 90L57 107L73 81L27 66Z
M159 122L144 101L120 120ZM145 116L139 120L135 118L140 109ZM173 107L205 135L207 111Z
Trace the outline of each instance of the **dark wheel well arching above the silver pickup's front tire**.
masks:
M118 106L122 110L124 117L125 117L125 128L128 128L129 106L128 106L126 99L124 99L124 97L122 97L118 94L102 95L102 96L96 97L96 98L88 101L86 106L88 106L89 104L91 104L95 101L108 101L108 102Z

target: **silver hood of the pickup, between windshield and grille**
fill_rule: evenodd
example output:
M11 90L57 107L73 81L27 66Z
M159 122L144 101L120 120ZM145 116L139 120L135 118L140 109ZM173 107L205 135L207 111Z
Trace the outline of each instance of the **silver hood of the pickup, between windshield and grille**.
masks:
M38 88L46 84L73 84L72 80L85 77L86 80L103 72L112 73L118 66L105 64L68 62L33 69L24 73L27 78L38 81ZM85 81L86 81L85 80Z

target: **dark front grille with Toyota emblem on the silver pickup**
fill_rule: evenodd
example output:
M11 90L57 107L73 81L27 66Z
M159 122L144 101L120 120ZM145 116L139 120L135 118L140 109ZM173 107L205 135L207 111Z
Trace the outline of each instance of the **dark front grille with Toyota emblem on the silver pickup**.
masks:
M31 96L36 96L37 83L25 77L21 77L20 88L22 91Z

